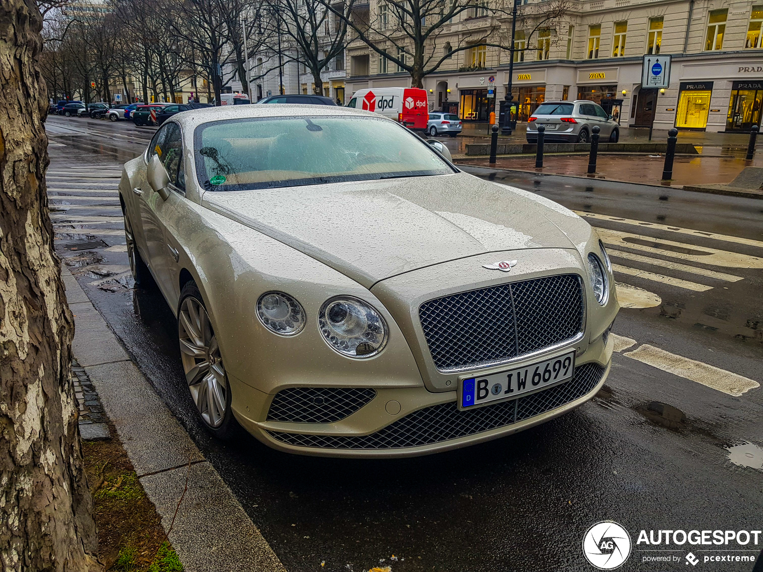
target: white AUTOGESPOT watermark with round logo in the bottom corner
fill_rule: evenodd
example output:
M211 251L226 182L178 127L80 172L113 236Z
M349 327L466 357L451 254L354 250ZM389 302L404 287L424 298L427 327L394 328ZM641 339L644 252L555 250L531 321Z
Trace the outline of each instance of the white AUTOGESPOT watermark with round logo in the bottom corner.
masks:
M633 552L642 564L673 563L693 568L697 564L754 563L761 542L760 530L658 529L639 531L633 545L623 525L606 520L597 522L585 533L583 555L599 570L622 566ZM692 548L686 553L687 545Z

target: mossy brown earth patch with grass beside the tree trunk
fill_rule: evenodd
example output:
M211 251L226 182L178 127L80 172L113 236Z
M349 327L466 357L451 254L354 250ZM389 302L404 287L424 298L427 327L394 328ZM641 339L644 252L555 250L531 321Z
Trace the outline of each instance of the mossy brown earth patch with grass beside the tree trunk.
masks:
M111 428L108 441L82 442L98 527L98 555L114 572L180 572L159 515Z

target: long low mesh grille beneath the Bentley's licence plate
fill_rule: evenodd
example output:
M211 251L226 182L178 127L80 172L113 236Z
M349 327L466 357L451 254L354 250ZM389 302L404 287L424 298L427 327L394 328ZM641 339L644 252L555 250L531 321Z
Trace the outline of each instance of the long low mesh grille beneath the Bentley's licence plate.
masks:
M459 410L455 401L414 411L384 429L359 437L305 435L269 431L276 440L298 447L330 449L392 449L419 447L458 439L509 426L546 413L594 390L606 368L588 363L575 368L575 375L546 390L475 410Z

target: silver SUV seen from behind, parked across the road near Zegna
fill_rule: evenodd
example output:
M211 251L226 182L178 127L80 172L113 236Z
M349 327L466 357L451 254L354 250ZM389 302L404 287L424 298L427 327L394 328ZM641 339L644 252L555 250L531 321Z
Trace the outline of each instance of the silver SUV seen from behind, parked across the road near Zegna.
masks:
M527 120L527 143L538 142L538 126L546 127L546 143L588 143L594 126L600 141L617 143L620 128L612 116L593 101L544 101Z

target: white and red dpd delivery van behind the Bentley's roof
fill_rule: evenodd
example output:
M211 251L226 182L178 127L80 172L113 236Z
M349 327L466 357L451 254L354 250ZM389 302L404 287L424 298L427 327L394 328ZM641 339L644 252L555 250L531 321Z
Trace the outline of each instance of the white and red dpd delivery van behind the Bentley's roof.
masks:
M360 89L349 100L347 107L385 115L414 131L427 130L429 101L426 89Z

